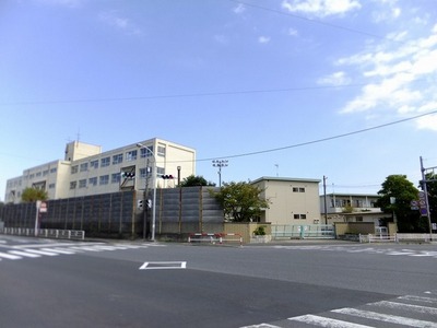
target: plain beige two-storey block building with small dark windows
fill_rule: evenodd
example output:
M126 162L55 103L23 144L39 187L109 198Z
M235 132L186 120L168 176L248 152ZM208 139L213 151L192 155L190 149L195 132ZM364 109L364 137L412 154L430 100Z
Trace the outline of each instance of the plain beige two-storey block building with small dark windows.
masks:
M252 185L263 189L270 208L260 222L306 225L320 223L319 179L261 177Z

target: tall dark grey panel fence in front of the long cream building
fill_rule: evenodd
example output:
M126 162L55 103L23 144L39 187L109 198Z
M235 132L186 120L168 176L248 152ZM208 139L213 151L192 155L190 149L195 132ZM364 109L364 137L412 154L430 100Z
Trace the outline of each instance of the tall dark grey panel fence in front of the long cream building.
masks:
M84 231L87 237L150 236L152 209L139 208L142 191L120 191L86 197L48 200L39 213L43 230ZM144 202L143 202L144 206ZM5 204L0 213L4 227L35 229L35 203ZM222 232L223 209L210 187L157 189L156 234Z

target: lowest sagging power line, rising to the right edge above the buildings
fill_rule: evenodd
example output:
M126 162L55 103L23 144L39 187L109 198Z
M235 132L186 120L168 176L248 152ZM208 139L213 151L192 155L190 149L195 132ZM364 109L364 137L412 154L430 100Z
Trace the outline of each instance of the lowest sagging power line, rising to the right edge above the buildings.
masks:
M332 137L327 137L327 138L322 138L322 139L312 140L312 141L306 141L306 142L302 142L302 143L296 143L296 144L291 144L291 145L285 145L285 147L280 147L280 148L273 148L273 149L262 150L262 151L257 151L257 152L249 152L249 153L241 153L241 154L235 154L235 155L220 156L220 159L236 159L236 157L253 156L253 155L272 153L272 152L283 151L283 150L287 150L287 149L293 149L293 148L299 148L299 147L304 147L304 145L315 144L315 143L321 143L321 142L326 142L326 141L330 141L330 140L334 140L334 139L345 138L345 137L350 137L350 136L354 136L354 134L358 134L358 133L364 133L364 132L368 132L368 131L376 130L376 129L386 128L386 127L389 127L389 126L394 126L394 125L398 125L398 124L401 124L401 122L405 122L405 121L409 121L409 120L414 120L414 119L417 119L417 118L421 118L421 117L424 117L424 116L429 116L429 115L433 115L433 114L437 114L437 110L420 114L420 115L412 116L412 117L409 117L409 118L403 118L403 119L400 119L400 120L395 120L395 121L391 121L391 122L388 122L388 124L375 126L375 127L371 127L371 128L361 129L361 130L356 130L356 131L352 131L352 132L347 132L347 133L336 134L336 136L332 136ZM197 162L212 161L212 160L215 160L215 159L217 159L217 157L197 160Z

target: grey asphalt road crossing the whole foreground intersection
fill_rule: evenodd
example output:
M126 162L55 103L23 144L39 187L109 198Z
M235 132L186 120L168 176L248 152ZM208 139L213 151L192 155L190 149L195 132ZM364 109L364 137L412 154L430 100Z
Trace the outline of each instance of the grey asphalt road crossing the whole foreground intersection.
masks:
M405 296L427 300L402 301L410 307L436 309L391 308L392 316L436 323L436 271L437 245L224 247L0 235L0 326L315 327L308 323L340 316L394 327L338 312L366 313Z

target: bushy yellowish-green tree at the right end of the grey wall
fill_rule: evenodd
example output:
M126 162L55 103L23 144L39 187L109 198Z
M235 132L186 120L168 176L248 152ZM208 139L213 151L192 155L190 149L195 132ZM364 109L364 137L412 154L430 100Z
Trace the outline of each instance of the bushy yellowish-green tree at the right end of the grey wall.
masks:
M223 206L225 216L234 222L250 222L269 208L269 201L261 198L263 190L248 183L223 184L220 191L213 192Z

